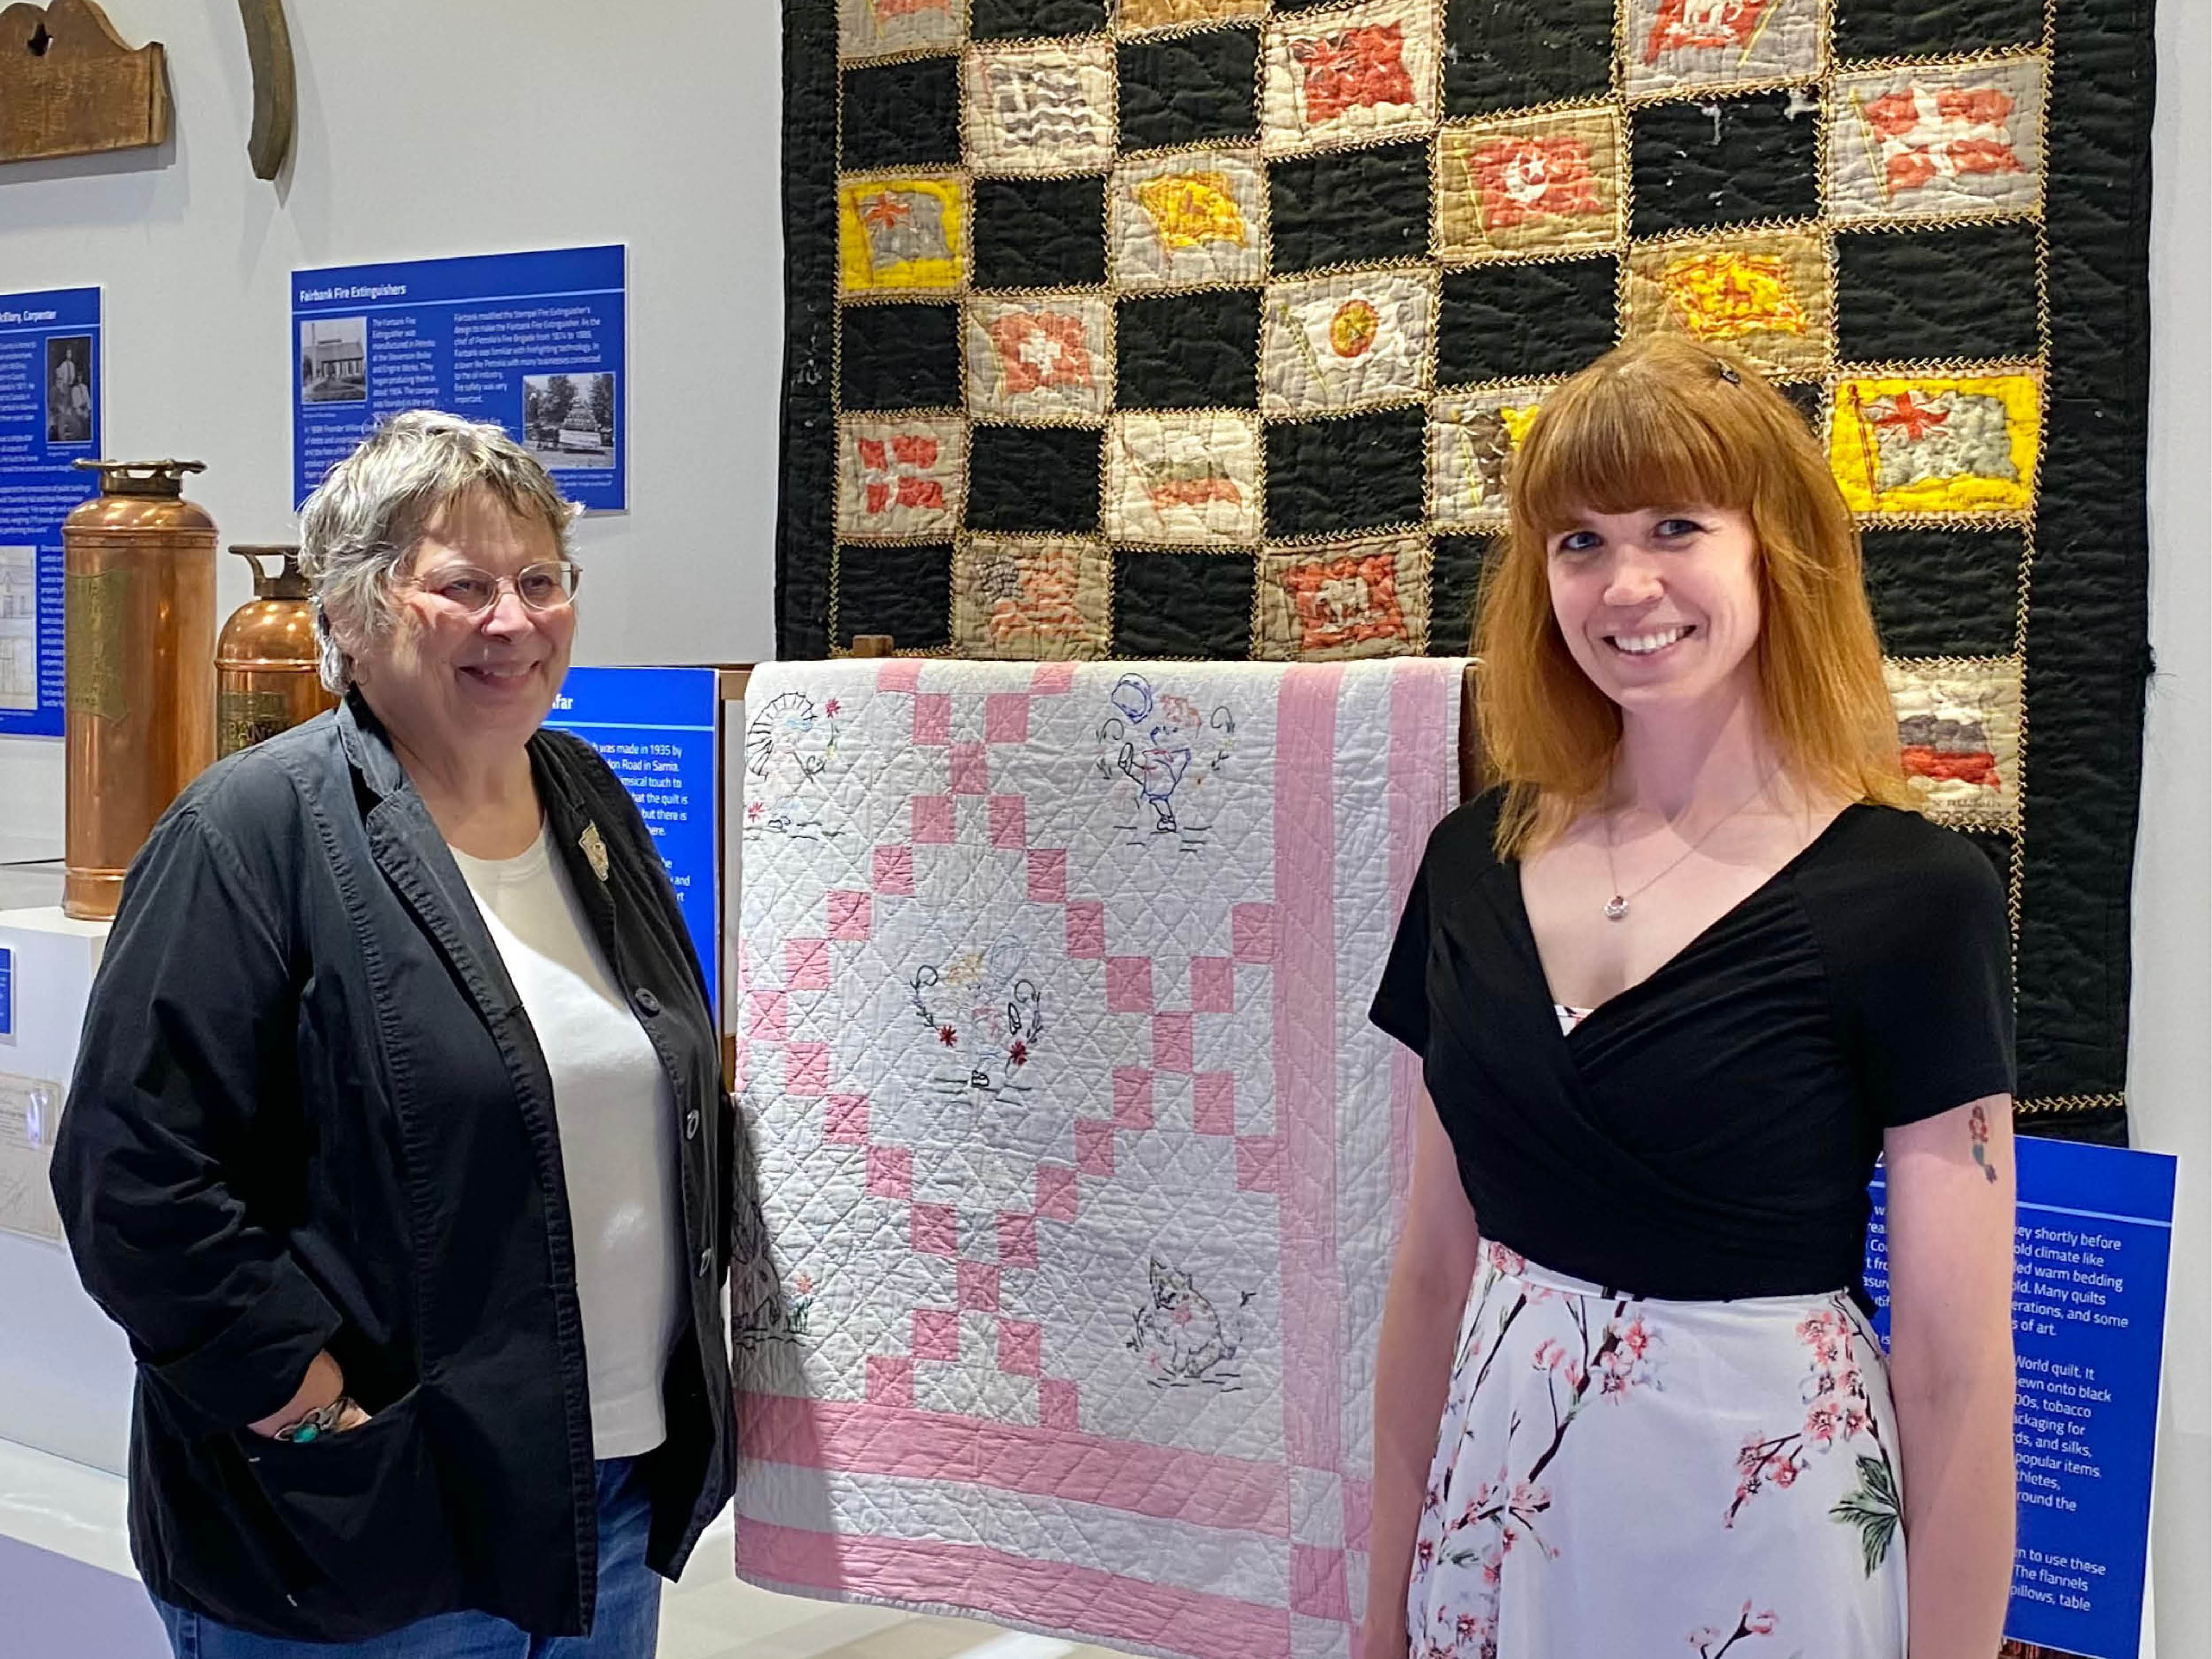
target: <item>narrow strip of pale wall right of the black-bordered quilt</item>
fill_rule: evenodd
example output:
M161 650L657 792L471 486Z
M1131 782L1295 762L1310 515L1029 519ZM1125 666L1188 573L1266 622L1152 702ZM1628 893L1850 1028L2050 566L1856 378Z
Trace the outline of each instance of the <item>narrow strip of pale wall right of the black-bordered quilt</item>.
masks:
M2212 1655L2212 4L2159 7L2150 219L2150 719L2135 863L2135 1144L2181 1155L2152 1517L2163 1659ZM2031 761L2033 765L2033 761Z

